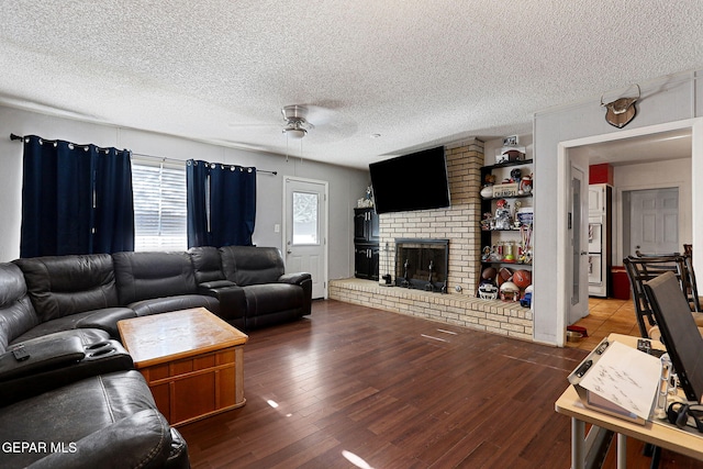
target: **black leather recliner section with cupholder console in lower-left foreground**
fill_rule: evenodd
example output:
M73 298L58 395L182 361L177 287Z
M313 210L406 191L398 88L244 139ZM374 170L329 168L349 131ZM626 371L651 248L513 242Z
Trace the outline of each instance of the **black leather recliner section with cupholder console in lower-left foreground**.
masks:
M190 466L186 442L108 332L30 338L38 317L20 268L0 264L0 467Z

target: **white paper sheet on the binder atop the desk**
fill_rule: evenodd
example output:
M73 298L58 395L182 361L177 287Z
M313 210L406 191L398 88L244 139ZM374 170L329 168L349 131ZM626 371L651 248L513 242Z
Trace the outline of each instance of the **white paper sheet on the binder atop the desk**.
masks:
M659 358L613 342L581 379L580 386L638 417L649 420L660 377Z

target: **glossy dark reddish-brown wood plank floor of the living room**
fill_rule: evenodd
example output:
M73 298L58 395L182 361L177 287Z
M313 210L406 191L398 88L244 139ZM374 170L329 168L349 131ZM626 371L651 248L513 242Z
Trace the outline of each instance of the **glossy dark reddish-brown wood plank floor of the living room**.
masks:
M568 468L554 402L585 354L315 301L249 334L245 406L180 431L194 469ZM665 451L660 467L703 465Z

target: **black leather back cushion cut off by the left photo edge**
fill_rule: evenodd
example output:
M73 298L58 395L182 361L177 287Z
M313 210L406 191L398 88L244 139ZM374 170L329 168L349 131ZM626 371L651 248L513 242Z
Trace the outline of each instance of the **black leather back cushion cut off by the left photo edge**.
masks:
M14 264L0 264L0 354L38 323L22 270Z

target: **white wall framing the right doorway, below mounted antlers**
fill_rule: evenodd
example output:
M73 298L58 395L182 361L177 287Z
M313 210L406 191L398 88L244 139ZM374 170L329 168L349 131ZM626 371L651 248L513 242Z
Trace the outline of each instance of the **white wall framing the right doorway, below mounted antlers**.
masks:
M576 146L576 143L585 144L589 138L596 136L636 135L637 132L645 132L651 126L660 130L669 125L676 127L679 123L692 126L691 198L698 200L699 192L703 191L701 185L696 185L703 177L703 168L696 163L699 158L703 158L703 136L700 135L700 129L696 131L700 124L692 119L701 116L703 83L695 80L696 75L699 74L681 74L640 83L643 98L637 103L637 115L622 130L605 122L599 97L593 97L589 102L547 110L535 115L535 340L560 344L565 334L563 315L567 302L566 293L559 287L565 287L567 256L562 239L566 237L565 232L559 227L566 224L567 211L563 201L567 199L567 192L563 182L568 179L569 161L560 160L566 154L563 147ZM703 233L696 233L699 223L702 223L702 217L694 212L694 245L703 244ZM695 252L694 256L698 256ZM696 261L698 258L694 258L695 264L700 264Z

